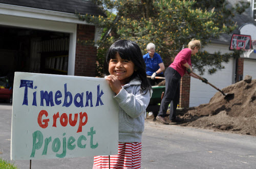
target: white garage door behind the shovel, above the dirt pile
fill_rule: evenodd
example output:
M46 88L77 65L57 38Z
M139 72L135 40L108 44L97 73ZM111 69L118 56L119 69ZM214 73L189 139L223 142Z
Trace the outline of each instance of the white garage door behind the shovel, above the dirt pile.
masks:
M230 59L228 63L223 63L223 66L225 66L225 69L217 71L213 75L209 75L207 70L204 75L202 75L202 77L206 78L212 85L216 86L220 90L232 84L233 59ZM195 73L199 74L198 72ZM199 79L191 77L189 107L209 103L210 99L216 94L216 92L218 91L215 88L203 83Z

